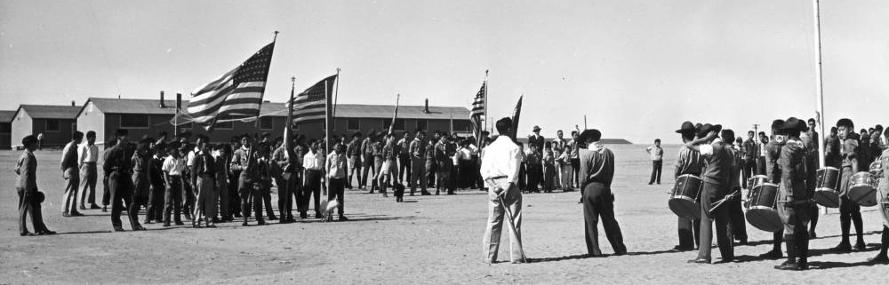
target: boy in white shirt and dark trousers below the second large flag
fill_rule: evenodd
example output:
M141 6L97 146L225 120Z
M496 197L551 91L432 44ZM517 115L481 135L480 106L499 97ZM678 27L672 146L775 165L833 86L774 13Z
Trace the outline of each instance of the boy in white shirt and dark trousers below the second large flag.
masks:
M302 168L306 170L305 182L302 186L302 199L298 205L300 218L308 218L308 201L315 196L315 218L321 218L321 178L324 178L324 162L321 143L312 144L306 155L302 156Z

